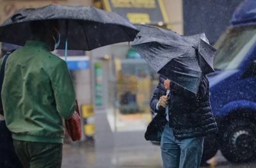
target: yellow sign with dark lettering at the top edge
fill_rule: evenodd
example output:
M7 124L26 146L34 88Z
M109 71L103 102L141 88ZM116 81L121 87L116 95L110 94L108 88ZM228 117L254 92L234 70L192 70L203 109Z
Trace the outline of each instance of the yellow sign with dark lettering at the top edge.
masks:
M111 0L114 8L156 8L155 0Z

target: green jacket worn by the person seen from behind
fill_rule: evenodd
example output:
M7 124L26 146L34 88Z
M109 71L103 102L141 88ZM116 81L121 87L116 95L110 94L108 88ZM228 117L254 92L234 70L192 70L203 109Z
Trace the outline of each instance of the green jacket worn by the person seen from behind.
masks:
M76 100L65 61L46 43L28 41L10 54L4 73L1 96L13 139L63 143L63 119L72 116Z

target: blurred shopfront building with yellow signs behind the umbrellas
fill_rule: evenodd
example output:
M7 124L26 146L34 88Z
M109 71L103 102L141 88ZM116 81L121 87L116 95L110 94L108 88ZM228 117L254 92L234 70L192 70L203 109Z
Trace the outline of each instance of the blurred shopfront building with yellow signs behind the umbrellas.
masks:
M232 12L241 1L0 0L0 23L20 8L36 8L51 3L93 5L115 11L133 24L151 24L185 35L205 32L209 41L214 43L228 26ZM16 48L9 44L1 46L2 55L6 50ZM54 52L63 56L61 50ZM113 133L143 134L151 119L149 101L158 75L129 48L129 43L89 52L68 51L67 63L83 114L84 139L93 137L95 124L99 133L95 139L99 141L105 136L100 132L109 132L109 141L113 141Z

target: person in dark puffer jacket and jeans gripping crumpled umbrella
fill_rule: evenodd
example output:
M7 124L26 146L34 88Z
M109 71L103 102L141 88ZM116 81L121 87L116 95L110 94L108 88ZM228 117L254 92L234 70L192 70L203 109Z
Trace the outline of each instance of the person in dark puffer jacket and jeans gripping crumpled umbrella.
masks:
M148 125L145 138L161 141L163 167L199 167L204 137L218 132L208 79L202 77L198 93L194 94L160 75L150 108L156 117Z

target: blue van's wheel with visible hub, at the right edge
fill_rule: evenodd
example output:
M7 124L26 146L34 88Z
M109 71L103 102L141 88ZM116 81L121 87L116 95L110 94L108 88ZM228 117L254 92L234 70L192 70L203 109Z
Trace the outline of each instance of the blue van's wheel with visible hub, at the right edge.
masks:
M255 159L256 132L250 121L234 120L221 137L221 153L230 162L243 163Z

